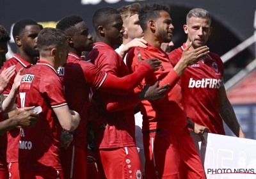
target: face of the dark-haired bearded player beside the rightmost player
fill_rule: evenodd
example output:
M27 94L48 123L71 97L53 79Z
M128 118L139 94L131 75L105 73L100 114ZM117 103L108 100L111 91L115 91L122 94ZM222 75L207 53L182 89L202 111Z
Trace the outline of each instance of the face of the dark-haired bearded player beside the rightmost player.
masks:
M168 12L161 11L160 17L156 20L156 33L159 41L168 43L172 41L174 26Z

